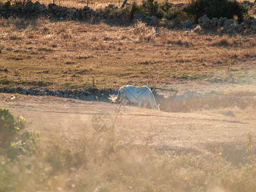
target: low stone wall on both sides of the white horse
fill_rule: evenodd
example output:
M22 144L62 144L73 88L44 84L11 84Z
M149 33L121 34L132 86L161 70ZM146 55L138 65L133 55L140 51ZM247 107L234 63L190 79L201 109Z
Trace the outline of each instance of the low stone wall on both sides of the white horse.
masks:
M118 90L87 88L79 90L52 90L44 88L0 88L0 93L19 93L22 95L42 95L63 97L70 99L112 102L109 95L117 95ZM188 112L191 109L211 109L211 108L228 108L237 106L244 109L248 106L256 106L256 93L253 92L238 92L232 95L223 95L218 92L197 93L184 92L182 95L177 95L174 102L170 102L173 98L163 98L162 94L154 92L157 104L160 104L161 111L167 112ZM172 110L170 110L172 108Z

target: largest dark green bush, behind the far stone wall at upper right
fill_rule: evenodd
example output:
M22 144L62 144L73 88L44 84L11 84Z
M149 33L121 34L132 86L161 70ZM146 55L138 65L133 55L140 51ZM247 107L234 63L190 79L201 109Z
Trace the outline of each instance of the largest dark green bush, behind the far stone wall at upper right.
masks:
M195 22L204 15L210 19L213 17L233 19L236 15L237 21L240 23L243 22L243 17L248 13L248 9L243 4L232 0L192 0L184 8L184 12Z

